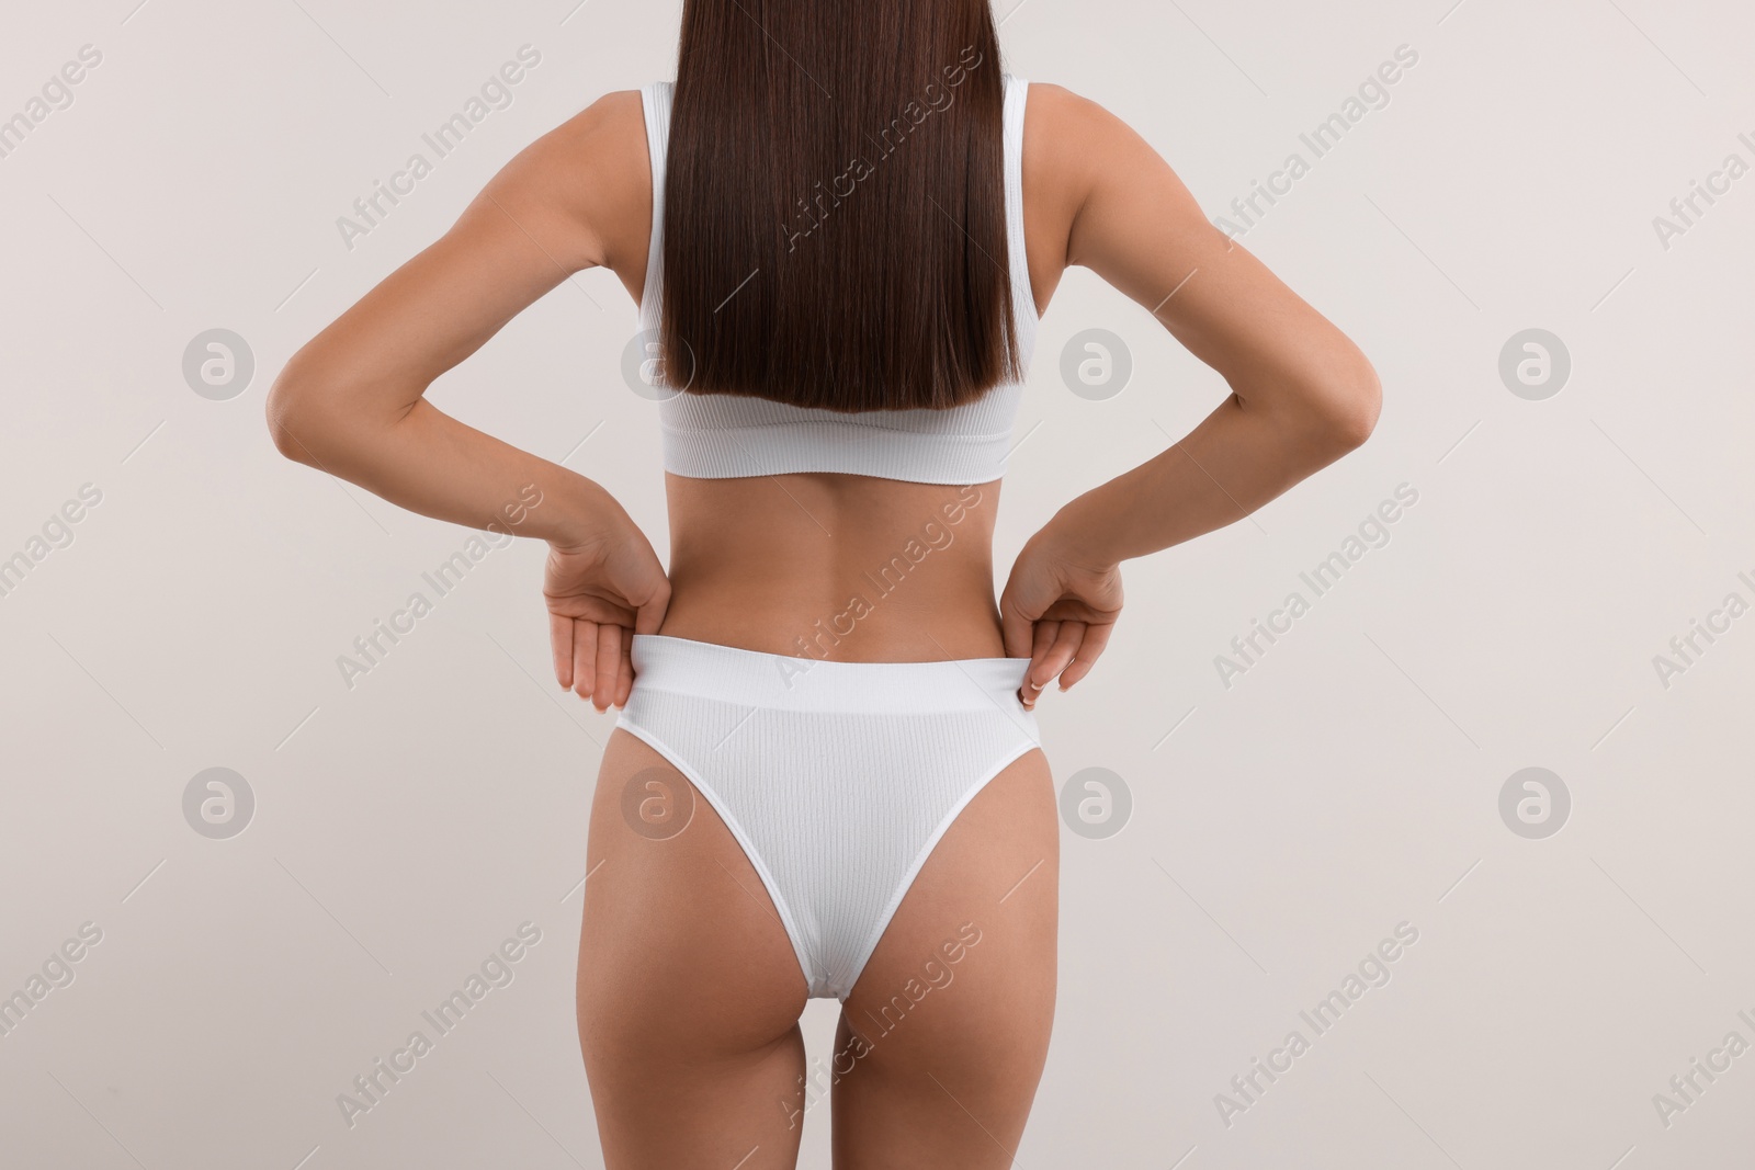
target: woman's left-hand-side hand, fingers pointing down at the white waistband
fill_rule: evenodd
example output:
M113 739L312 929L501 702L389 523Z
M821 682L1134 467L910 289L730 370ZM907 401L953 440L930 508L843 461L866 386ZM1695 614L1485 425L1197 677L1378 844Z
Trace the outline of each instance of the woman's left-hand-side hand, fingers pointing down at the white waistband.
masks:
M634 635L658 633L670 581L646 533L618 510L591 535L549 542L542 574L555 677L598 714L628 702Z

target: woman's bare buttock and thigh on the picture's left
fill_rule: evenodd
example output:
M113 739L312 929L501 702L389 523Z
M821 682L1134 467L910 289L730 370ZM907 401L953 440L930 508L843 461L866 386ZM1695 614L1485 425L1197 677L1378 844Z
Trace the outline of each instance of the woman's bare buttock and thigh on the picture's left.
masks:
M790 1170L804 972L725 823L620 728L586 867L579 1045L609 1170Z

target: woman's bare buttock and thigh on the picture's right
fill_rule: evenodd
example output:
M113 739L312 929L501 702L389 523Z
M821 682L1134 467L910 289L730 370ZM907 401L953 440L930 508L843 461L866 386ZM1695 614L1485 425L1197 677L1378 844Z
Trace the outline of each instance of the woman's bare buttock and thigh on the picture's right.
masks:
M939 840L842 1005L837 1170L1013 1165L1053 1026L1058 881L1032 751Z

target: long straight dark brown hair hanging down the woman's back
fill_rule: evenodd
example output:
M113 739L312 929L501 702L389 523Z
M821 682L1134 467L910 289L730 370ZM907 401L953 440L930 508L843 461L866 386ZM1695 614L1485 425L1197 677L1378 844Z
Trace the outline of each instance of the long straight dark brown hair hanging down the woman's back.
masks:
M660 353L690 393L942 409L1020 375L988 0L684 0Z

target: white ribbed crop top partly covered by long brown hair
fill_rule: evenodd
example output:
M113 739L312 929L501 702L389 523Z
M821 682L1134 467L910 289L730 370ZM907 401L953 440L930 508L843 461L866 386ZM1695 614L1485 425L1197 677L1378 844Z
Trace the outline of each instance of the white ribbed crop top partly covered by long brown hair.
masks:
M1035 351L1035 300L1023 247L1023 102L1028 82L1006 82L1006 249L1011 261L1018 358L1028 372ZM670 144L672 82L641 89L653 167L653 235L639 321L658 328L663 281L663 175ZM735 479L784 472L849 472L918 484L985 484L1006 470L1021 381L1002 381L974 402L948 410L839 412L742 395L676 393L658 403L663 467L691 479Z

